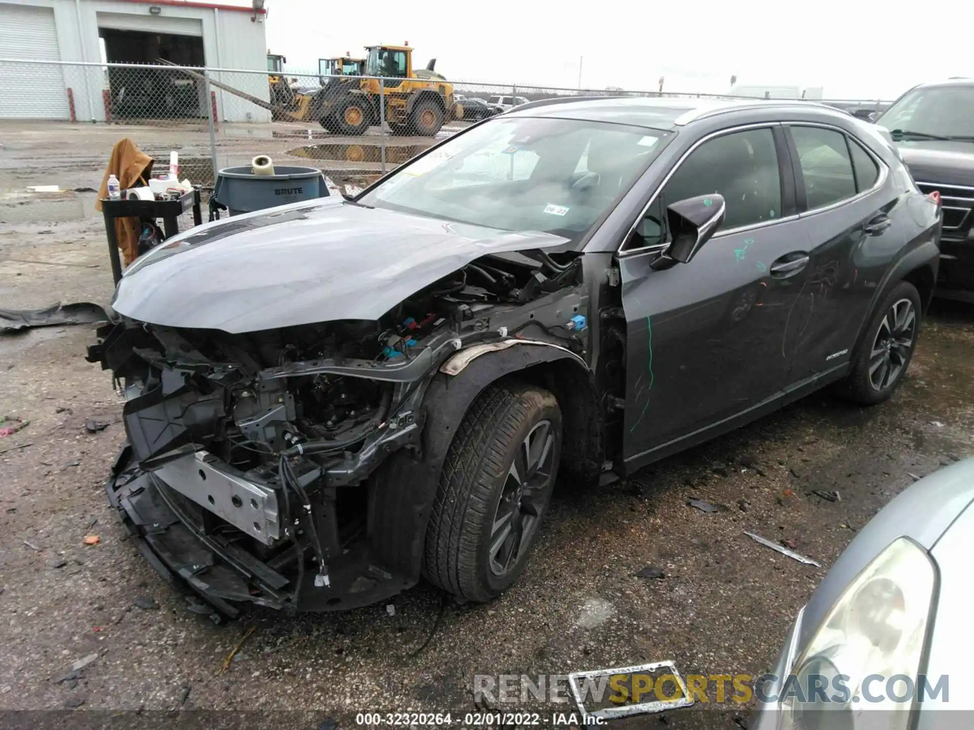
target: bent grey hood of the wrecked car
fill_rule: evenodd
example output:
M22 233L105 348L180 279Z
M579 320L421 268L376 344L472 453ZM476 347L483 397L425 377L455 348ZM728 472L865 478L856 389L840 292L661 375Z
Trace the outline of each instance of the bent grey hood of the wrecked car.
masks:
M481 256L566 243L339 198L303 201L169 238L126 271L112 308L150 324L231 333L378 319Z

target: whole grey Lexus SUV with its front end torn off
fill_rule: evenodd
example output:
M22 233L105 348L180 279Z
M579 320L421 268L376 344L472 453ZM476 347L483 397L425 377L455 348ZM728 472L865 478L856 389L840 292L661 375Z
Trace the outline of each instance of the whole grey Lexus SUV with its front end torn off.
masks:
M88 355L127 398L108 495L214 620L422 576L487 601L556 484L826 384L887 398L940 227L882 136L826 107L525 104L355 199L135 261Z

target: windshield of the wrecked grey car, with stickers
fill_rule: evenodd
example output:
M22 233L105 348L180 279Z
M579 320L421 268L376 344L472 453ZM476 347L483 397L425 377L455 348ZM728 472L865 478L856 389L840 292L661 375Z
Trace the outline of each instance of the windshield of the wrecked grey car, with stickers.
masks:
M579 240L653 162L669 134L576 120L498 120L402 165L358 202Z

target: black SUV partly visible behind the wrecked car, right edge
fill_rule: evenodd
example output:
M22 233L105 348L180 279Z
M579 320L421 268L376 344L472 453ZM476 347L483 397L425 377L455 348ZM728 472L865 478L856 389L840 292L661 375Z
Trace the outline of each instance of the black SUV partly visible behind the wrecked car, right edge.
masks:
M937 295L974 302L974 81L914 87L876 123L889 130L919 189L940 194Z

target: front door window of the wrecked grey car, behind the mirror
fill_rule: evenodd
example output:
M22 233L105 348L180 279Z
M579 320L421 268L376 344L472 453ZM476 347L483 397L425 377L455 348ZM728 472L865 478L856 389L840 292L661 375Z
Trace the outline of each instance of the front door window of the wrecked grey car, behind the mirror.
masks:
M767 223L781 216L781 174L770 128L747 129L710 139L673 173L636 228L626 248L663 243L666 206L719 193L727 205L723 230Z

